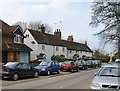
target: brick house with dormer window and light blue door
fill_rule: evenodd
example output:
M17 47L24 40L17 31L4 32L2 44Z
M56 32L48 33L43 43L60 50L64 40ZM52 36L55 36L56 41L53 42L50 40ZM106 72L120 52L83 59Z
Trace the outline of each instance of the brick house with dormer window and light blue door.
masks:
M0 20L0 37L2 39L1 62L29 62L32 49L24 44L25 36L20 26L10 26Z

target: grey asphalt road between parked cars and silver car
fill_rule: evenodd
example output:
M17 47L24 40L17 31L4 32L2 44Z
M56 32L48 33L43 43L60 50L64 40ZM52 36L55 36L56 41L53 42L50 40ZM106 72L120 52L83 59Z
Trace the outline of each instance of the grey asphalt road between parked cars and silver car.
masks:
M4 86L3 89L90 89L98 69L80 71L67 75L37 79Z

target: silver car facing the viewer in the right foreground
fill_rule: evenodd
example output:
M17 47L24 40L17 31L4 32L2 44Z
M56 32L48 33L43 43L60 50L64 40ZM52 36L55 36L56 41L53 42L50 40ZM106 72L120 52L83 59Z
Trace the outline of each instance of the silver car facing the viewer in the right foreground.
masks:
M120 91L120 64L101 67L92 81L91 89Z

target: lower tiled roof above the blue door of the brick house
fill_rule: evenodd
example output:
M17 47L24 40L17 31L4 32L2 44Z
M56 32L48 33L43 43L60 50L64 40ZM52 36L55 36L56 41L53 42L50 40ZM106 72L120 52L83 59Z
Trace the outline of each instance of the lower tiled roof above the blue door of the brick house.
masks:
M25 44L19 44L19 43L4 43L2 44L2 50L3 51L32 51L31 48L29 48Z

